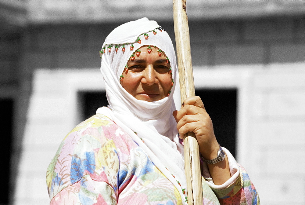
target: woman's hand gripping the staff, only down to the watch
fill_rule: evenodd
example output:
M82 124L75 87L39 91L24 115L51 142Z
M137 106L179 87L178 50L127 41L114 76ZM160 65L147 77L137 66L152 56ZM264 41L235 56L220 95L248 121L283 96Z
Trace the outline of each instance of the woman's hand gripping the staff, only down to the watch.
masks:
M204 159L217 157L217 143L213 123L206 112L200 97L188 97L184 100L181 110L173 112L177 121L177 130L181 138L188 132L194 132L199 144L199 151Z

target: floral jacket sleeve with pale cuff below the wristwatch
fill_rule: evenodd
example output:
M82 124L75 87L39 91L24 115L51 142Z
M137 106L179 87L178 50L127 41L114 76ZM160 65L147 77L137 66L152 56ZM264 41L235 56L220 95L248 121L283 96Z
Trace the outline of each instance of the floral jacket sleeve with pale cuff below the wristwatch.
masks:
M206 183L213 190L220 204L260 204L258 193L246 170L236 163L234 157L226 148L223 149L228 156L231 178L222 185L214 185L206 165L203 172Z

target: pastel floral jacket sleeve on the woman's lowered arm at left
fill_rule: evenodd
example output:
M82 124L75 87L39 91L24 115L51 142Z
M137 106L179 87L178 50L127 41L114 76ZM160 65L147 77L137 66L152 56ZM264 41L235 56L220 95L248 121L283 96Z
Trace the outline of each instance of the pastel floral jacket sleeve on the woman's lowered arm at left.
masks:
M88 119L63 140L47 171L52 205L117 204L119 157L107 120Z

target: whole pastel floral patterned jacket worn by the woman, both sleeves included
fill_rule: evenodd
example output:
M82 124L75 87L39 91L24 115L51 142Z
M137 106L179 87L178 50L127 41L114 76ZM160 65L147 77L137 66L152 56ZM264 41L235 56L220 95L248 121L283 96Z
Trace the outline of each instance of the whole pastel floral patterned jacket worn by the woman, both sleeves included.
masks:
M204 204L259 204L246 171L216 190L202 178ZM47 170L50 204L176 205L185 202L147 154L116 123L97 114L76 126Z

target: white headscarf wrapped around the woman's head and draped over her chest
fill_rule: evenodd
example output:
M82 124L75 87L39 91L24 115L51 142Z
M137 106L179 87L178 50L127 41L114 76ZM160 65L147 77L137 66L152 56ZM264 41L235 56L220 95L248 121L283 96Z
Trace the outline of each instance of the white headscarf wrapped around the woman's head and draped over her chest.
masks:
M141 43L137 42L139 38ZM120 75L124 75L124 67L131 54L144 45L156 46L167 55L172 78L176 80L176 56L167 32L156 21L147 18L122 24L108 35L101 50L101 71L111 110L103 107L96 113L108 116L144 149L152 162L178 189L183 204L186 204L183 146L179 143L177 123L172 115L175 110L173 93L176 83L168 97L154 102L137 100L120 84ZM132 50L130 46L134 46ZM182 189L185 189L185 195Z

